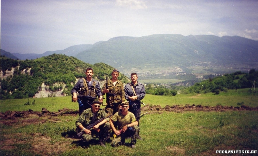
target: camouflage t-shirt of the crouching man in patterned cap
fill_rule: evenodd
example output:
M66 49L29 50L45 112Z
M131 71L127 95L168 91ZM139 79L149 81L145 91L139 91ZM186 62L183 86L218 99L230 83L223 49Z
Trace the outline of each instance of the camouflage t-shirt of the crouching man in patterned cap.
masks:
M111 119L117 123L118 129L122 129L127 124L132 123L132 120L135 120L135 116L132 112L128 112L126 115L123 115L122 112L119 111L116 112Z

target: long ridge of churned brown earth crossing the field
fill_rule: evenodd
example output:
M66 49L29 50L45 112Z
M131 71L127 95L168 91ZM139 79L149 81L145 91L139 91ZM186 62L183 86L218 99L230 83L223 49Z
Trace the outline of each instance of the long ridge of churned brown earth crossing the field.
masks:
M186 104L185 106L183 105L173 105L173 106L165 106L162 108L160 105L149 105L147 104L146 106L141 108L141 111L143 112L150 112L150 113L162 113L163 111L169 111L169 112L185 112L185 111L204 111L204 112L210 112L210 111L216 111L216 112L224 112L224 111L241 111L241 110L250 110L250 111L258 111L258 107L250 107L250 106L202 106L202 105L190 105ZM62 115L77 115L79 114L78 110L72 110L68 108L63 108L62 110L58 110L58 112L49 112L46 108L42 108L41 112L33 111L33 110L28 110L28 111L6 111L5 113L0 112L0 118L1 119L12 119L5 124L11 125L12 123L16 123L17 121L15 120L16 118L22 117L22 118L33 118L35 119L28 119L28 123L36 123L39 122L38 117L51 117L51 116L62 116ZM0 123L3 123L3 120L0 120ZM26 121L23 121L26 123ZM44 122L44 121L41 121Z

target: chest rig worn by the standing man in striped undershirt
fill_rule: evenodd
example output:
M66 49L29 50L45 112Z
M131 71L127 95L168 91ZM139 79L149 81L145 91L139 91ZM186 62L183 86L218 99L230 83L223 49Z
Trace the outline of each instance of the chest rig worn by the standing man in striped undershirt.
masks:
M88 88L86 80L83 78L83 87L81 87L78 91L79 95L84 95L84 96L91 96L91 97L97 97L97 89L96 87L96 81L93 81L91 84L91 87Z

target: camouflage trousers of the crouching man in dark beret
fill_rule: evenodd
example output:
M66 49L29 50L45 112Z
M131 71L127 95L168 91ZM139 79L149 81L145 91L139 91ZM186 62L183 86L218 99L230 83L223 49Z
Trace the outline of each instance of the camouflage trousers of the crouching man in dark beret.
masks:
M91 130L91 134L83 134L82 135L82 139L85 143L89 143L91 141L91 139L95 136L99 136L99 140L103 140L103 137L105 135L105 133L107 133L107 131L110 129L110 123L106 122L105 124L99 126L100 131L97 132L96 130L93 130L92 128Z

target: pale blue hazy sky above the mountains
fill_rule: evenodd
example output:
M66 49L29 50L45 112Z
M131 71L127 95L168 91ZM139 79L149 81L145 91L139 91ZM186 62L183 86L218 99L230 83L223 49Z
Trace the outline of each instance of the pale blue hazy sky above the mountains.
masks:
M42 54L116 36L258 40L257 0L1 0L1 49Z

